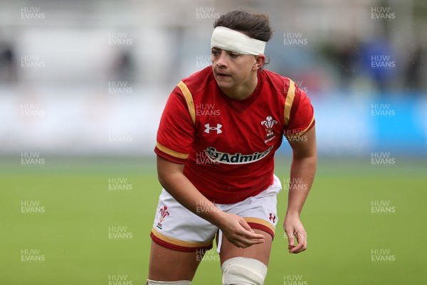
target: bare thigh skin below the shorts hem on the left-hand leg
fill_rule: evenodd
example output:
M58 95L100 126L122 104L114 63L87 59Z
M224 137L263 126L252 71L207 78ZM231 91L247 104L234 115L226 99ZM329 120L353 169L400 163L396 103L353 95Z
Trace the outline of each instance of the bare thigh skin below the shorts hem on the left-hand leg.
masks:
M148 279L154 281L193 280L206 249L180 252L152 242Z

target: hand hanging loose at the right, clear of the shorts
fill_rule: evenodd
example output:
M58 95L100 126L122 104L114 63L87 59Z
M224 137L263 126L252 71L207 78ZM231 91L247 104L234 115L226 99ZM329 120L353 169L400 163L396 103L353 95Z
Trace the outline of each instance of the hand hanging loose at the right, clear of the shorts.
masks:
M300 217L297 215L286 215L283 228L288 235L289 253L300 253L307 249L307 233L302 226ZM295 245L295 237L297 245Z

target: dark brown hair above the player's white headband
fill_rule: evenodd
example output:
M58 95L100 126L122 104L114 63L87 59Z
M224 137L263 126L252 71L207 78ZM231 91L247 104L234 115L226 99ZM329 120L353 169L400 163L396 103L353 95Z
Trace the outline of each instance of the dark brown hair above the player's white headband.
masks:
M214 28L218 26L241 31L260 41L268 41L273 36L270 16L255 11L235 10L223 14L214 23Z

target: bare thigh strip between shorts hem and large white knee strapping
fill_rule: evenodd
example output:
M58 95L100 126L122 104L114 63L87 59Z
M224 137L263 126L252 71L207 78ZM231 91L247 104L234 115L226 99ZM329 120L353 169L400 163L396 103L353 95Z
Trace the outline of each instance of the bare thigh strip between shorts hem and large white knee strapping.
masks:
M260 262L263 262L266 266L268 265L268 260L270 259L271 244L273 242L273 237L270 234L263 230L254 229L254 232L265 236L265 242L263 244L255 244L251 247L245 249L236 247L231 242L228 242L226 237L222 237L221 241L221 250L219 257L221 259L221 264L227 259L232 257L249 257L257 259Z

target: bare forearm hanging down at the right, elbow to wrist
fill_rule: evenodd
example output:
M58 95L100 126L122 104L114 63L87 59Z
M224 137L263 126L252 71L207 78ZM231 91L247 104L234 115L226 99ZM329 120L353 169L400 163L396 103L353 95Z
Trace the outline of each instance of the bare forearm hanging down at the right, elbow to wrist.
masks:
M290 167L288 210L286 215L300 216L315 179L317 156L294 157Z

